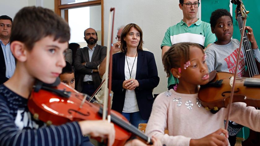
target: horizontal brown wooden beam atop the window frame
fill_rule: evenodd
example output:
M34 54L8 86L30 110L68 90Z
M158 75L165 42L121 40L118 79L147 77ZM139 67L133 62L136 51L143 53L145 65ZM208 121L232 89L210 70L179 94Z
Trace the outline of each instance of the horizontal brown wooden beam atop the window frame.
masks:
M101 0L59 5L59 9L71 9L71 8L97 6L97 5L101 5Z

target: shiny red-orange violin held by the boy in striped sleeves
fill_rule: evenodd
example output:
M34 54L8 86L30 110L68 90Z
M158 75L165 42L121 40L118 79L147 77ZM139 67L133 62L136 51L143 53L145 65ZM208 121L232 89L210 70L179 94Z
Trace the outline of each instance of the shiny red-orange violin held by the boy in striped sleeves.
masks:
M64 83L46 86L41 82L35 85L28 100L28 109L33 118L47 125L61 125L72 121L101 120L103 109L89 103L85 94L79 93ZM111 110L111 122L115 125L114 146L124 145L131 135L152 144L150 138L131 125L120 113Z

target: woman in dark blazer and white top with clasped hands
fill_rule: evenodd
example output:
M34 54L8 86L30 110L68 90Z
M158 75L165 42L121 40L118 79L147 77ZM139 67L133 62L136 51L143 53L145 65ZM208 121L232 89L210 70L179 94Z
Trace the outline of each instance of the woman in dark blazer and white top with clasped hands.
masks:
M140 27L128 24L120 38L122 52L113 55L112 109L138 127L148 122L154 102L152 90L160 79L154 54L142 49Z

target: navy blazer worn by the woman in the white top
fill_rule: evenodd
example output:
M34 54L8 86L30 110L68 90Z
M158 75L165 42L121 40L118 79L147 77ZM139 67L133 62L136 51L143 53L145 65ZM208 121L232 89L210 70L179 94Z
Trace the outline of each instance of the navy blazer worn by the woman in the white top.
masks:
M152 90L159 84L160 78L154 60L154 54L149 51L138 51L136 80L139 87L135 89L138 108L141 117L147 120L152 111L154 102ZM112 109L122 113L124 108L125 92L123 82L125 80L125 53L120 52L113 55L112 69L112 91L113 103Z

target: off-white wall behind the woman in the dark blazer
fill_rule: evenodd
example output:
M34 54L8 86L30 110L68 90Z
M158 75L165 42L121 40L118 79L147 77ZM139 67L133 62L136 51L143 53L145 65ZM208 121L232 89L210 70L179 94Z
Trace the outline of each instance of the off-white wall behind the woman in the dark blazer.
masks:
M154 94L167 90L167 77L163 68L160 46L166 30L183 18L178 4L178 0L104 0L104 45L107 44L109 11L111 7L115 7L113 38L116 37L118 27L135 23L143 31L144 47L154 53L160 77Z

